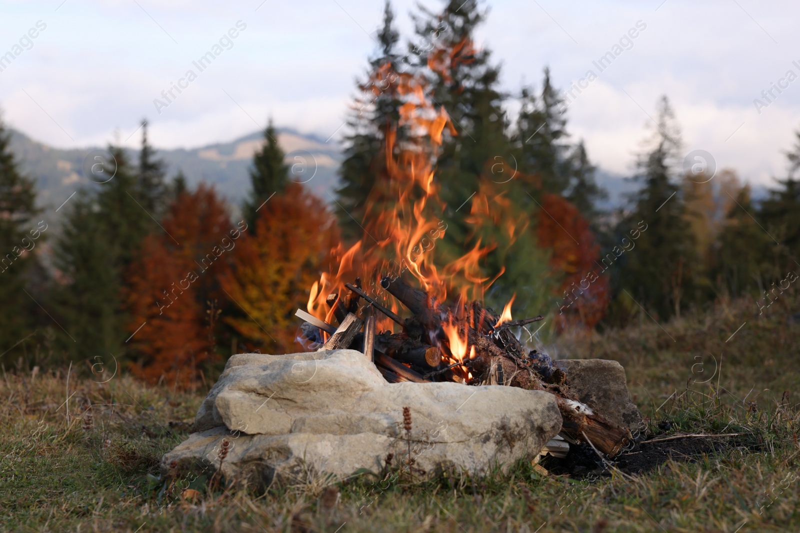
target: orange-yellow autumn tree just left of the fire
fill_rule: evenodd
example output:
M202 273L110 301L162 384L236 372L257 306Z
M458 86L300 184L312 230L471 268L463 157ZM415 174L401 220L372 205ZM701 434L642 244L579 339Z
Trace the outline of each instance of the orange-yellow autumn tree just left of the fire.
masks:
M236 247L220 279L245 312L226 323L270 352L302 351L294 312L306 309L309 288L328 271L328 252L338 241L336 221L322 200L302 185L287 185L259 211L255 235Z

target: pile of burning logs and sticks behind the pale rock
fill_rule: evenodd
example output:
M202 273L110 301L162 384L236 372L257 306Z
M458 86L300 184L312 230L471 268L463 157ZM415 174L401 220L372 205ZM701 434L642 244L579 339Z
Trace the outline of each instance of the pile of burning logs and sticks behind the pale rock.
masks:
M561 436L588 442L608 456L617 455L632 437L627 428L610 423L570 392L569 376L550 356L527 351L511 328L542 320L502 320L478 301L438 302L399 277L384 276L383 290L411 313L401 318L362 290L361 280L346 284L344 298L330 294L326 304L338 326L298 309L307 340L320 350L350 348L363 352L390 383L453 381L466 385L506 385L546 391L556 396L563 424ZM366 305L362 306L362 301ZM362 308L362 316L358 316ZM376 332L376 313L394 320L399 333ZM323 335L325 332L327 335Z

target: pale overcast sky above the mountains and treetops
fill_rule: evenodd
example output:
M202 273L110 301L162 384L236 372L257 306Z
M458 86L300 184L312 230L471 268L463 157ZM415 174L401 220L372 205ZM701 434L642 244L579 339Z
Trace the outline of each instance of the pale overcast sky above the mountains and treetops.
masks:
M586 141L603 169L630 171L656 101L666 93L686 153L705 149L719 168L737 169L755 183L785 173L782 150L800 126L800 80L794 79L800 76L800 3L504 0L484 6L490 15L478 44L502 62L504 89L517 92L523 82L538 87L544 66L561 89L589 70L597 76L581 82L586 89L573 93L566 113L574 137ZM413 2L394 7L409 35ZM322 139L334 135L334 142L381 15L378 0L4 0L0 55L17 55L10 64L0 61L0 109L12 127L59 147L136 145L142 117L158 147L230 141L262 127L270 115L278 126ZM636 38L614 49L637 22ZM199 72L193 62L231 29L237 36L223 40L226 50ZM601 72L593 62L614 51ZM187 70L197 79L182 82L182 93L173 90L177 97L157 110L154 99L166 102L162 90ZM762 91L770 89L767 100ZM756 98L763 104L758 109Z

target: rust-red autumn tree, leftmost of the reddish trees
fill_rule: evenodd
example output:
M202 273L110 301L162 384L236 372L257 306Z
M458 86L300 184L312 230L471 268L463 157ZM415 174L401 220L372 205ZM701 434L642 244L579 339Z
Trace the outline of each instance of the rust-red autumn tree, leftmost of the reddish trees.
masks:
M219 297L216 263L240 234L214 188L202 184L172 202L162 226L166 233L146 238L128 272L129 330L144 324L130 340L138 352L131 369L150 382L187 388L214 360L206 301Z

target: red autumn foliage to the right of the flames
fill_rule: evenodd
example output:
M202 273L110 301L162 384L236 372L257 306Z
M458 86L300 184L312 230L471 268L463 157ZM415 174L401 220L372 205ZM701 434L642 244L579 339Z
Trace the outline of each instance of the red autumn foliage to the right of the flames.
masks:
M580 325L594 328L606 312L610 295L607 276L590 276L590 272L599 272L601 268L597 265L600 246L594 242L589 221L564 197L545 193L537 238L539 246L553 250L550 258L553 271L566 274L559 288L559 292L564 291L561 305L566 307L556 315L558 328ZM574 303L570 304L570 300Z

